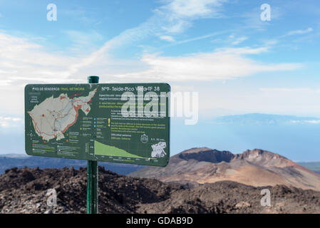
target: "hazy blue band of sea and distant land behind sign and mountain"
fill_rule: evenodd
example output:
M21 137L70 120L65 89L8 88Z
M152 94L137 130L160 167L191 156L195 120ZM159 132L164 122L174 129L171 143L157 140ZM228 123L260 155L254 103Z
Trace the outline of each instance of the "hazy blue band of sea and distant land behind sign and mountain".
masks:
M197 125L171 121L171 155L192 147L210 147L241 153L261 148L279 153L295 162L320 161L320 120L316 117L248 113L203 118ZM24 152L24 125L0 128L0 155Z

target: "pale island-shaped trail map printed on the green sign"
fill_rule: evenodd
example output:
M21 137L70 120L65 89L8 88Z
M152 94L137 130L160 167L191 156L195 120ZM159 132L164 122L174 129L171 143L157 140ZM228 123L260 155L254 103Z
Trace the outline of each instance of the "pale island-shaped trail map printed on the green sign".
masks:
M80 94L68 97L66 93L61 93L58 98L53 98L52 95L36 105L28 112L36 134L46 141L65 138L63 133L76 123L78 111L82 110L88 115L96 92L97 88L91 90L87 96L81 97L77 97Z

